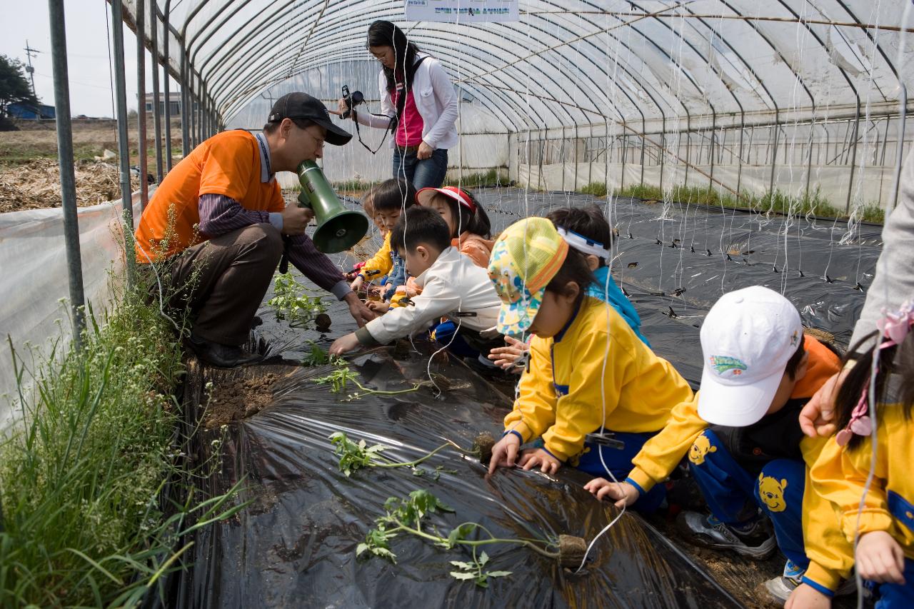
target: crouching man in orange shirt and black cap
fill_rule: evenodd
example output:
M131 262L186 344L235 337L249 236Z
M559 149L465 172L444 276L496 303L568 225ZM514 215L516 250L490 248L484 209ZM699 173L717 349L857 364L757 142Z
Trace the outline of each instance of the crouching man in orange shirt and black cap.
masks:
M168 261L160 277L173 305L190 308L191 346L223 368L260 359L240 346L282 257L318 286L345 300L359 326L374 314L342 272L305 234L310 209L285 206L275 172L295 171L323 155L324 142L352 137L330 121L324 104L305 93L284 95L262 134L216 134L178 163L155 191L135 232L136 258Z

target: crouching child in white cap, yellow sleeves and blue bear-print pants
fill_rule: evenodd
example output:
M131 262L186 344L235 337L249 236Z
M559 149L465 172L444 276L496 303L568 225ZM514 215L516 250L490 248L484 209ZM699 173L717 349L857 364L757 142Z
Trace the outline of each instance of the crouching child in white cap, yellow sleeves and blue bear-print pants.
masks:
M717 300L702 325L701 348L698 410L678 413L694 423L664 429L645 444L626 483L598 479L586 487L617 505L630 504L669 475L687 449L711 514L679 514L676 525L686 540L753 559L780 549L787 557L783 574L764 584L773 600L786 601L800 582L835 593L850 570L851 552L828 534L833 510L808 489L809 467L824 439L803 435L799 413L840 369L839 358L804 337L789 300L760 285Z

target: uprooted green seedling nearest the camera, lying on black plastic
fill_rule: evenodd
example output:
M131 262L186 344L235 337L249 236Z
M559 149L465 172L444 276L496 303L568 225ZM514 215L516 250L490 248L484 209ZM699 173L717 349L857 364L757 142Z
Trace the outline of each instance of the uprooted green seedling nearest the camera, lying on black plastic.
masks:
M561 535L558 540L497 538L489 529L477 522L463 522L445 535L437 527L424 522L423 518L431 514L442 514L454 510L427 490L412 491L407 498L388 497L384 503L384 510L384 516L375 520L376 527L368 530L365 541L356 547L356 556L369 552L374 556L380 556L396 563L397 554L390 548L390 541L400 533L429 540L445 550L464 546L473 550L473 562L452 561L451 564L459 571L451 572L451 575L458 580L473 580L476 585L481 587L488 585L490 577L505 577L511 573L486 572L484 567L489 561L488 555L485 552L478 558L476 555L476 549L480 546L493 543L513 543L533 550L548 559L559 560L565 566L577 566L577 563L583 558L583 553L579 550L581 547L586 548L584 540L568 535ZM470 536L475 531L480 531L487 537L481 540L471 539Z

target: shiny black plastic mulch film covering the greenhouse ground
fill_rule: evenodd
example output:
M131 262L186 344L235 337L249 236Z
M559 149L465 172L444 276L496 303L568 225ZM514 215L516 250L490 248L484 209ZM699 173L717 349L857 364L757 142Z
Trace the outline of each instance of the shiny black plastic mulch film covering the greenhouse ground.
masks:
M495 231L528 213L594 200L516 189L484 190L479 198ZM783 283L785 295L801 308L804 325L833 332L840 343L863 303L856 280L868 284L880 246L879 227L863 226L859 240L841 245L844 223L794 218L785 243L780 232L786 219L779 216L627 199L617 200L612 210L620 231L617 280L631 294L654 350L693 385L701 374L697 326L723 291L753 283L780 289ZM679 289L685 291L675 295ZM487 590L449 575L449 561L470 560L469 551L441 550L424 540L392 540L396 564L356 558L356 545L383 514L385 500L417 488L430 490L455 510L430 519L444 531L474 520L499 537L568 533L591 540L615 512L589 497L581 488L587 476L570 468L554 476L501 470L486 478L483 465L451 449L423 464L422 476L402 468L341 474L331 433L385 444L387 454L409 461L445 439L469 447L478 432L500 433L511 401L458 361L440 356L429 363L430 347L422 340L413 347L406 342L379 347L352 358L350 368L357 370L359 382L378 390L407 389L430 373L441 393L428 383L396 396L350 399L354 388L331 393L314 382L329 367L296 365L309 350L307 340L327 347L355 328L345 306L334 303L330 313L334 326L320 334L290 328L262 306L265 324L255 330L256 344L275 359L241 371L190 375L185 400L191 406L206 400L202 387L208 379L219 384L267 372L281 379L264 410L229 423L225 432L198 436L198 461L212 454L214 440L221 441L223 451L221 470L208 479L207 491L224 492L244 478L248 487L240 498L253 503L239 517L201 531L188 557L193 567L173 581L171 604L736 606L707 574L631 514L597 542L586 572L578 575L526 549L490 547L490 568L513 574L491 580ZM439 465L452 471L441 471L436 479L432 473Z

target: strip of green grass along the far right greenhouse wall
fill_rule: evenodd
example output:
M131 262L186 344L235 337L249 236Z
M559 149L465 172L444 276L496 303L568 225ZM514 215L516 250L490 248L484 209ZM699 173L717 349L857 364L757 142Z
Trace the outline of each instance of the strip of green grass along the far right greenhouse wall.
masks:
M581 187L580 192L595 197L605 197L607 188L603 182L591 182ZM632 197L645 200L670 200L682 203L695 203L713 207L751 209L752 211L767 213L792 213L794 215L812 214L819 218L847 218L848 215L841 208L836 208L822 196L818 188L812 193L802 197L791 197L780 190L774 190L763 195L744 192L737 198L729 192L722 192L710 187L685 187L676 186L667 191L652 185L635 184L613 190L614 197ZM860 219L866 222L881 223L885 219L884 211L877 205L867 205L861 209Z

